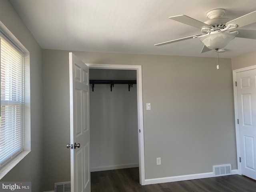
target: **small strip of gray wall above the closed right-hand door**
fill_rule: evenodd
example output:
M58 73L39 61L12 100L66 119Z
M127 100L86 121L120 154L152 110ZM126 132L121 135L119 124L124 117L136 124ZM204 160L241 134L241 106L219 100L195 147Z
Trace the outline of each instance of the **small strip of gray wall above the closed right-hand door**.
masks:
M232 70L256 65L256 52L232 58Z

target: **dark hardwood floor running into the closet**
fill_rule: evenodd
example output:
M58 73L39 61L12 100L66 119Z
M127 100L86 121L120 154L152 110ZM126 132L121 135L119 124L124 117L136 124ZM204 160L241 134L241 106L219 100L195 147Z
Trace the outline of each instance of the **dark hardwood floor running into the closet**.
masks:
M92 172L91 192L256 192L256 182L230 175L141 186L138 168L128 168Z

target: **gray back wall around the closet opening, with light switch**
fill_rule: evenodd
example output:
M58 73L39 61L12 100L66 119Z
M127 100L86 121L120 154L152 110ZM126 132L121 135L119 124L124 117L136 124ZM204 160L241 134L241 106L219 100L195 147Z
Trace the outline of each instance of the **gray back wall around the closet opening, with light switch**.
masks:
M237 169L231 59L220 59L216 70L216 58L74 54L86 63L142 65L146 179L212 172L213 165L227 163ZM42 55L48 105L44 154L55 154L44 162L47 170L63 173L48 174L46 180L53 183L69 175L68 51L43 50ZM146 102L152 110L145 110ZM49 139L60 133L57 144ZM161 166L156 166L157 157Z

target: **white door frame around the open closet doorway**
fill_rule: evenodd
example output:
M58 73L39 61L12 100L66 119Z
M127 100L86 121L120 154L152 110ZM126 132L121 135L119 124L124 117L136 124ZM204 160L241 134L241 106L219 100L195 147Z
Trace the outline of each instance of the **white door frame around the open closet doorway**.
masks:
M121 69L136 70L137 72L137 112L138 112L138 144L139 144L139 176L140 184L145 185L145 159L144 159L144 129L143 129L143 102L142 102L142 66L141 65L112 65L89 64L89 69Z

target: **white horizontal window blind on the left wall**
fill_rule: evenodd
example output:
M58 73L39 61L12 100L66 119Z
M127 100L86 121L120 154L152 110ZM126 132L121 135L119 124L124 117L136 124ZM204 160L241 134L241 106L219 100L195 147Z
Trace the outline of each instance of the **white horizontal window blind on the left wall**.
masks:
M24 56L0 37L0 167L24 148Z

